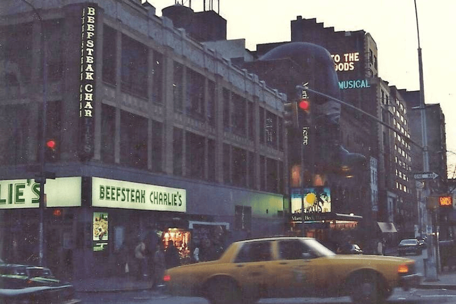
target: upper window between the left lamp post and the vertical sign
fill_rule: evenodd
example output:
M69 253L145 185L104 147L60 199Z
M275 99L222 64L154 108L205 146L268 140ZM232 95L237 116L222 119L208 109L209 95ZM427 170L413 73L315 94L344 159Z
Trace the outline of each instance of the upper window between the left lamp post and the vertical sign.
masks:
M50 20L45 23L45 37L48 65L48 79L59 81L63 75L63 24L61 20Z

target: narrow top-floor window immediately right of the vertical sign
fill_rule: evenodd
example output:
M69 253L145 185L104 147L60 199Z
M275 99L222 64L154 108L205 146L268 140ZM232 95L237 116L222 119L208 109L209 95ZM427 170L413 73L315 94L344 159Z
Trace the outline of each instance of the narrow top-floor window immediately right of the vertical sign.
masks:
M103 81L116 85L116 30L104 25L103 27Z

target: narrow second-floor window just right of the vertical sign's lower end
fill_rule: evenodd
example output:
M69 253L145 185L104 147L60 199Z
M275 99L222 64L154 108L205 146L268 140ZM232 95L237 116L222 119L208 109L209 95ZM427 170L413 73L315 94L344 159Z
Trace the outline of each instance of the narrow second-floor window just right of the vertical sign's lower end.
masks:
M107 104L101 105L101 161L115 162L116 108Z

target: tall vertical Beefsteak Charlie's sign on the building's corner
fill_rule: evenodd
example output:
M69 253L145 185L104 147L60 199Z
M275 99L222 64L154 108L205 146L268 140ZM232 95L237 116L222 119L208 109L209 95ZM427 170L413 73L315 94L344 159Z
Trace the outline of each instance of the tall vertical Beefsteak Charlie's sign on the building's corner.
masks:
M81 27L81 85L79 118L81 130L80 158L93 157L94 153L94 102L95 102L95 51L97 8L84 7Z

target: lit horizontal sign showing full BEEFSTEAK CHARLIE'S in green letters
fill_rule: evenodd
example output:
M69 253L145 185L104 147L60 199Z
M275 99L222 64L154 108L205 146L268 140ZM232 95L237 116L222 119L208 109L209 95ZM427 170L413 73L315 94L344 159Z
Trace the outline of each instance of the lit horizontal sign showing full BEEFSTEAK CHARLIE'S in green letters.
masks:
M185 189L92 178L92 206L186 212Z

